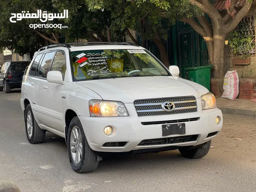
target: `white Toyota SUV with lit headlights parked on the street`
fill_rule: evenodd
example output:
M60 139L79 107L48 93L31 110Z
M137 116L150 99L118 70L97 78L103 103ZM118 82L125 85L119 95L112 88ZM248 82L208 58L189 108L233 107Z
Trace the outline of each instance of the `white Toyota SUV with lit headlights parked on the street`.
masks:
M201 158L222 129L222 112L206 88L178 75L130 43L41 48L22 83L28 141L42 142L46 131L65 138L78 173L113 152L178 149Z

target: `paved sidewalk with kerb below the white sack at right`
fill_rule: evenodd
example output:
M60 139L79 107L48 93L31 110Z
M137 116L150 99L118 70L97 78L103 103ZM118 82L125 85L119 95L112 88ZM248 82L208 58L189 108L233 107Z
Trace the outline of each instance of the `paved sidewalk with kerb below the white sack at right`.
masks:
M217 107L222 110L222 113L256 118L256 102L243 99L229 100L225 98L216 98L216 100Z

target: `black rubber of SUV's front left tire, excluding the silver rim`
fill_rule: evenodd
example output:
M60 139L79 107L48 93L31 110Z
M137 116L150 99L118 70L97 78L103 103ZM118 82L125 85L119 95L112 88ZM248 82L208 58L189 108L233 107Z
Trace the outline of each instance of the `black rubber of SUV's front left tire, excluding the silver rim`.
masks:
M72 133L72 129L77 126L78 127L78 131L80 131L81 134L81 138L82 138L82 155L80 158L80 162L78 164L76 164L73 160L72 154L71 154L71 133ZM74 169L75 172L77 173L87 173L87 172L93 172L94 170L96 170L96 168L98 167L98 159L97 159L97 155L95 154L95 152L90 148L87 140L86 140L86 136L84 134L84 130L82 127L82 124L79 120L78 117L74 117L69 125L68 128L68 141L67 141L67 147L68 147L68 156L69 156L69 161L70 164L72 166L72 168Z

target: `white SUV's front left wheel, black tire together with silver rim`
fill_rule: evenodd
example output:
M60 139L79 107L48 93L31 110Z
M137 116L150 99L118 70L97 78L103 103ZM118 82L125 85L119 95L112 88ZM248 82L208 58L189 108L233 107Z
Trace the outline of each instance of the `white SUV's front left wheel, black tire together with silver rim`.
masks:
M87 173L96 170L99 164L97 155L90 148L78 117L74 117L70 122L67 146L69 161L75 172Z

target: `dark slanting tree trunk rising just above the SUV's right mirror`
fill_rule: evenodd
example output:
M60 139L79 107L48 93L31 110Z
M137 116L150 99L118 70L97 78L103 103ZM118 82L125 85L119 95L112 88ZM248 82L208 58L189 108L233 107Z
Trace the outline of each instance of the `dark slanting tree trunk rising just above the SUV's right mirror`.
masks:
M156 46L159 49L161 62L164 64L164 66L169 68L170 61L169 61L166 49L164 47L164 43L163 43L161 36L158 32L156 32L155 37L153 38L153 42L154 42L154 44L156 44Z

